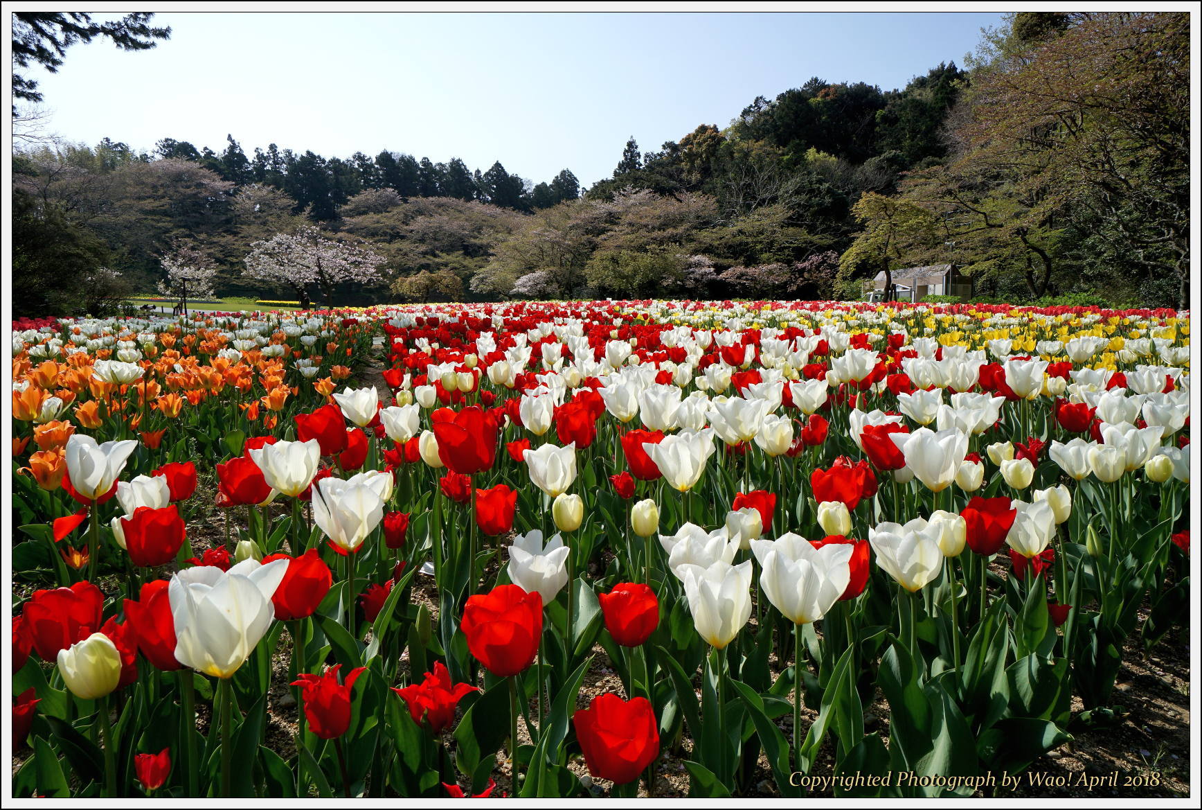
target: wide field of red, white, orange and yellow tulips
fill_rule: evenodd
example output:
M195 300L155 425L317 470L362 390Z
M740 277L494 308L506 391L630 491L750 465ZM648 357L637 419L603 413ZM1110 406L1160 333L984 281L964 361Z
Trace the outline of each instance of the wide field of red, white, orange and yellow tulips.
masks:
M12 341L17 797L993 796L1188 622L1185 312Z

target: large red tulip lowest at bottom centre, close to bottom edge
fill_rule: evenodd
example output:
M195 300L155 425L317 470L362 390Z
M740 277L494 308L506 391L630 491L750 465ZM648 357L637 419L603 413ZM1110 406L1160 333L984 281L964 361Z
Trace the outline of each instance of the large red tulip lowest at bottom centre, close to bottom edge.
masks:
M632 782L660 756L659 722L647 698L599 694L572 715L572 725L594 779Z

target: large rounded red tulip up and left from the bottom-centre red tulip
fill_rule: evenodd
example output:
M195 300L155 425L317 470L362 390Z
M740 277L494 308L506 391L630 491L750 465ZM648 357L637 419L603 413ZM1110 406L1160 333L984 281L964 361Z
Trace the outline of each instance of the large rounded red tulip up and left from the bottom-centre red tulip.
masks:
M468 650L488 672L517 675L538 652L542 598L517 585L498 585L468 598L459 628L468 637Z

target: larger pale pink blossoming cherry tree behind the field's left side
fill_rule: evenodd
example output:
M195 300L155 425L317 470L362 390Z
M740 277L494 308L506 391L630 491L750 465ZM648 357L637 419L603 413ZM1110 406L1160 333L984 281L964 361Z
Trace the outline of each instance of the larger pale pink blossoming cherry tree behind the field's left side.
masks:
M308 286L316 284L331 306L335 284L375 282L386 261L365 247L327 238L309 225L276 233L250 248L244 259L248 278L287 284L302 300L308 298Z

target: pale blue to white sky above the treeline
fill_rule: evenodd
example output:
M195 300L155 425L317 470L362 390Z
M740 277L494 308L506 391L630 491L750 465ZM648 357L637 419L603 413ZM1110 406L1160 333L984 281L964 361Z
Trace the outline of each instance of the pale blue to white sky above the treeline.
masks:
M108 18L111 14L97 14ZM904 87L963 63L994 13L161 13L153 51L76 45L40 67L49 130L139 149L409 152L535 182L608 176L811 76Z

